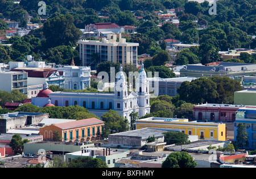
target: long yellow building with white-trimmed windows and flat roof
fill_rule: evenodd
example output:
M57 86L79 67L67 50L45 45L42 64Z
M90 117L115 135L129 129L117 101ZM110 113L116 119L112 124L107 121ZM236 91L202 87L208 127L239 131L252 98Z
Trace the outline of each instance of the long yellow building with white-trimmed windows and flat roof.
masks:
M177 118L145 118L136 121L137 129L140 128L166 128L177 129L187 135L197 135L204 140L226 140L226 124L214 122L189 122L188 119Z

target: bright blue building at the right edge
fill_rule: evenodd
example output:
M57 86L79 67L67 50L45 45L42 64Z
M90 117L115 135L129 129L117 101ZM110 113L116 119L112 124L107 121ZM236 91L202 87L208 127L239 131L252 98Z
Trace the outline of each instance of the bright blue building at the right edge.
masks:
M234 121L234 141L236 141L239 123L246 125L248 148L256 149L256 107L244 107L237 110L236 120Z

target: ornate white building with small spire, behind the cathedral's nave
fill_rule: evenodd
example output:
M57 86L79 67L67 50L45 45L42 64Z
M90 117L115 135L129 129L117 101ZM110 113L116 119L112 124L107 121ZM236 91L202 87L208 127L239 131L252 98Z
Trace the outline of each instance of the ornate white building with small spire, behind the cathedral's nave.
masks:
M58 72L63 72L65 78L64 89L83 90L90 88L90 67L75 66L72 59L71 65L59 68Z

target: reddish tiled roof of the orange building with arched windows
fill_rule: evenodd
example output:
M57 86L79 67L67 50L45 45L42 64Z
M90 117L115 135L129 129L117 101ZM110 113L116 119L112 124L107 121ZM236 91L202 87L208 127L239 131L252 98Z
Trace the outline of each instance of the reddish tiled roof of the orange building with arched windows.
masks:
M53 125L61 129L66 129L66 128L75 128L80 126L89 126L92 124L99 124L99 123L104 123L104 121L97 118L89 118L89 119L75 120L71 122L64 122L64 123L53 124Z

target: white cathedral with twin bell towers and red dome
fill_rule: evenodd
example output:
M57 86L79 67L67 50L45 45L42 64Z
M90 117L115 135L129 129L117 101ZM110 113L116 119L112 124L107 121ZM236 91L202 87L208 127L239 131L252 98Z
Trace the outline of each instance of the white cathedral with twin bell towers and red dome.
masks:
M44 90L47 91L47 95L44 96L46 99L35 97L32 99L33 105L39 107L49 105L49 103L54 106L79 105L88 109L89 113L99 117L112 109L117 111L123 118L128 119L129 122L130 114L133 112L138 112L139 117L150 113L149 81L143 64L135 80L135 92L131 90L131 87L129 88L122 66L117 74L114 93L52 92L47 87L47 84L44 84L44 89L42 90L42 93Z

